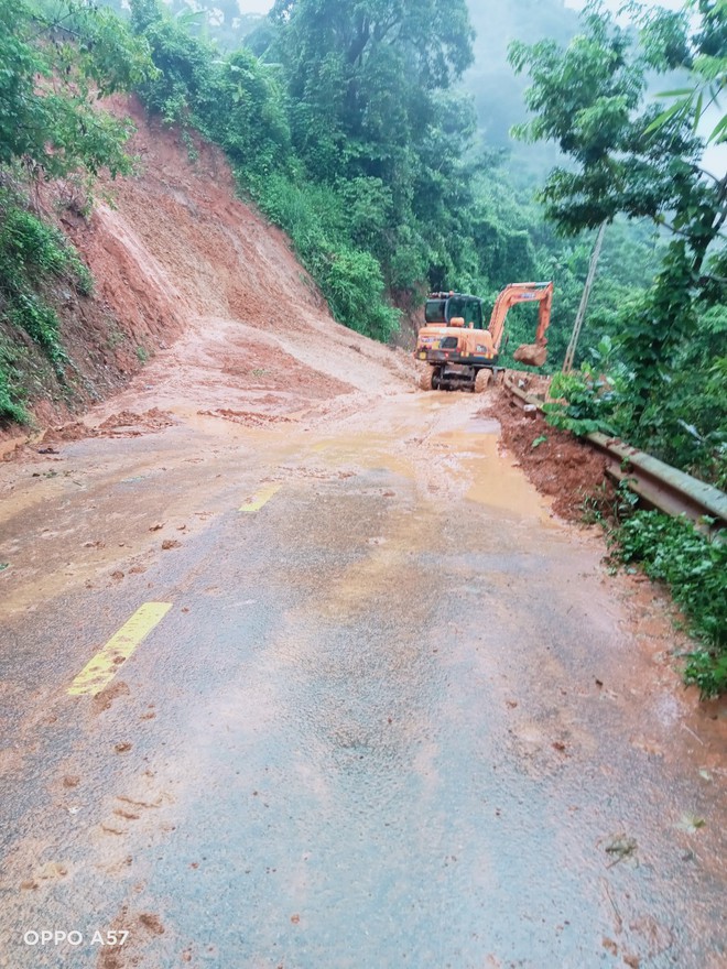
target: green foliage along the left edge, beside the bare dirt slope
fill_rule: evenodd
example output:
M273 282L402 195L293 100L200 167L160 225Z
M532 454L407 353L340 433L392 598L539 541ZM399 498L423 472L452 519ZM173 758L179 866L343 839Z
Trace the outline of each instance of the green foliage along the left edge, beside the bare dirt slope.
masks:
M25 189L101 167L130 172L129 124L96 102L153 68L143 41L110 10L80 0L0 0L0 322L42 347L63 378L67 358L48 291L62 281L89 293L91 280ZM0 420L25 418L14 364L3 344Z

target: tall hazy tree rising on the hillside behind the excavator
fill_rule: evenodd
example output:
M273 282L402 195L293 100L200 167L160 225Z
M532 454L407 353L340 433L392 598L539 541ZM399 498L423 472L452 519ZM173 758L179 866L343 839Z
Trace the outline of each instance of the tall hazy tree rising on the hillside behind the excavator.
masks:
M390 288L452 280L475 132L453 89L473 56L465 0L278 0L271 18L265 57L284 70L307 176L346 199L349 235L366 236ZM355 225L375 192L376 218Z

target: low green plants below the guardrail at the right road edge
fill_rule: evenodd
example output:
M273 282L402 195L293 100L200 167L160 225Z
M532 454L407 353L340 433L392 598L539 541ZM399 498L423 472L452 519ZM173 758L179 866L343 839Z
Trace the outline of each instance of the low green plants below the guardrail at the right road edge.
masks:
M710 542L684 519L638 511L611 534L623 563L640 563L669 585L690 633L703 645L687 656L685 682L703 697L727 692L727 544Z

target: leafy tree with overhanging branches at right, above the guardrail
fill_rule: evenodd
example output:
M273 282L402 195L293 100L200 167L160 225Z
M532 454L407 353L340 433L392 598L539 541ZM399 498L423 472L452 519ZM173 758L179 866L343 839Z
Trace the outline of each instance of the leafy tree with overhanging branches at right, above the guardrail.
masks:
M702 167L697 101L664 115L647 99L647 73L693 68L724 51L724 8L725 0L698 0L681 13L641 10L634 31L595 3L566 50L551 41L510 50L516 70L530 73L535 113L516 133L556 142L571 162L540 193L547 217L577 235L622 213L672 238L654 286L620 322L636 428L649 425L680 353L698 339L699 315L724 302L727 277L727 175Z

